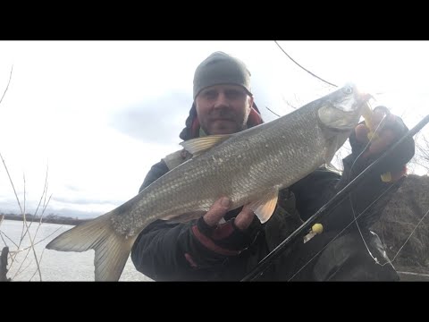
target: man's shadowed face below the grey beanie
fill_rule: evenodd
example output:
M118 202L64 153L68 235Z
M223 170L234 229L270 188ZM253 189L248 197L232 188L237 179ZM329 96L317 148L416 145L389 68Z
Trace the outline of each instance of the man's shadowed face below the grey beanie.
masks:
M207 134L231 134L245 129L253 97L238 85L214 85L201 90L195 103Z

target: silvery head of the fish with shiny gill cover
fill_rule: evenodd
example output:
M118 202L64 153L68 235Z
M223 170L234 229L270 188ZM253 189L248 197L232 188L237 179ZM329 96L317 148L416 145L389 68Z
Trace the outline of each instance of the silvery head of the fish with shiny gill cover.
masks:
M359 122L371 95L348 83L327 95L317 113L322 125L333 131L352 131Z

